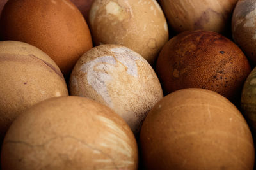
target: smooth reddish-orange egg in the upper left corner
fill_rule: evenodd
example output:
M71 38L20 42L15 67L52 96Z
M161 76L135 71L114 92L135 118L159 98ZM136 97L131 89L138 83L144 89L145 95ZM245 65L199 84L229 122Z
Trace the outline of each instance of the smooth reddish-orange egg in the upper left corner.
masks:
M69 0L9 0L1 17L1 35L40 48L66 77L77 59L92 48L83 15Z

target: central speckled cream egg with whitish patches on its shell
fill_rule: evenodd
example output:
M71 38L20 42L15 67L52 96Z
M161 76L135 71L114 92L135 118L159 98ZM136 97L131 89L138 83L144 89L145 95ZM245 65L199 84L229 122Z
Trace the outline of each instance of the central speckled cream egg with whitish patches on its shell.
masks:
M89 97L112 108L134 134L163 97L147 60L120 45L100 45L84 53L72 71L69 90L71 95Z

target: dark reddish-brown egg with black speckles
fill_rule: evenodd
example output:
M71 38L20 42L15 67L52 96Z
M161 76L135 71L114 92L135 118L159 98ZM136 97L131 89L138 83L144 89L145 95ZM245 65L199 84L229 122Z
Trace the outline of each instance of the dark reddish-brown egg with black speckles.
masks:
M166 94L198 87L237 102L250 65L243 52L224 36L186 31L164 45L156 70Z

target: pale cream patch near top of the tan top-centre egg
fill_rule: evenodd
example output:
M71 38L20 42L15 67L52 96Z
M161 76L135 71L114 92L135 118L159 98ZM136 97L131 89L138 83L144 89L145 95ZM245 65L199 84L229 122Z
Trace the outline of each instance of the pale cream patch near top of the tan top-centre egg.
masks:
M123 14L122 7L113 1L110 1L106 5L106 12L107 12L107 14L110 13L112 15L115 15L118 18L118 20L120 20L120 21L124 20L124 14Z

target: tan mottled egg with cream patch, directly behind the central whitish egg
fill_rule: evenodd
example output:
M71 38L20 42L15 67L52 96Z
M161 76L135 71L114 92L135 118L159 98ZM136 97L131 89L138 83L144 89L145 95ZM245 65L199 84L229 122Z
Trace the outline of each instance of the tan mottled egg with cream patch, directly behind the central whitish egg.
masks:
M89 20L95 45L124 45L150 64L168 41L166 19L156 0L95 0Z

